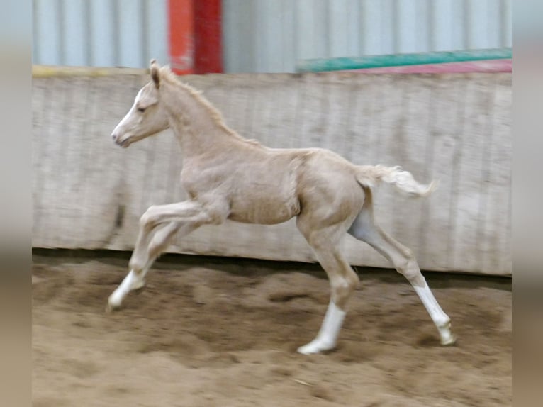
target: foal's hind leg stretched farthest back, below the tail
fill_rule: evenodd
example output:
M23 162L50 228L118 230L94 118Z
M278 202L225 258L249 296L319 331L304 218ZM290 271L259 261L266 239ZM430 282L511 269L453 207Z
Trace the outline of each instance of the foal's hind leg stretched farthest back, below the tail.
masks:
M408 279L437 327L442 345L454 344L455 339L450 330L451 320L444 313L440 304L437 303L432 291L430 291L430 287L420 272L413 252L384 233L374 223L371 201L369 206L364 205L364 208L349 228L348 233L374 247L377 252L381 253L394 265L400 274Z

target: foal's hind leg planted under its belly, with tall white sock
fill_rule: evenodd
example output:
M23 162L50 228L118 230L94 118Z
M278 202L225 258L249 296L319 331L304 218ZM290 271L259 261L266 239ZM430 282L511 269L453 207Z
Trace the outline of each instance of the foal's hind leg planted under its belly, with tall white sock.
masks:
M296 225L313 248L320 265L328 274L332 291L328 310L318 335L307 345L298 348L298 352L309 355L335 347L337 335L340 333L345 318L347 301L352 291L357 288L359 279L339 249L339 240L345 233L344 225L311 230L306 221L300 217L298 217Z

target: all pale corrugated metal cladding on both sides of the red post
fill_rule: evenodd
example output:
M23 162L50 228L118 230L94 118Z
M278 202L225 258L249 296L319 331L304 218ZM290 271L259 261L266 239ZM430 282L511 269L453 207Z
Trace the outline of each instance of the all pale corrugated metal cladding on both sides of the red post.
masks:
M169 62L167 0L33 0L33 62ZM225 72L307 58L511 46L511 0L223 0Z

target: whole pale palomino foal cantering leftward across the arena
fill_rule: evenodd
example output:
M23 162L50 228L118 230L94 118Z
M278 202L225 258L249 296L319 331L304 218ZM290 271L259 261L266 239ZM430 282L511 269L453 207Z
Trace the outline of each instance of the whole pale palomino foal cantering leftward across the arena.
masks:
M336 345L347 302L357 287L357 274L340 250L345 233L368 243L403 274L430 313L443 345L454 343L450 319L435 300L413 253L374 222L371 189L393 184L413 196L426 196L424 186L399 167L353 165L320 148L271 149L228 128L220 113L182 84L169 67L150 66L151 82L113 130L113 140L128 147L137 140L172 128L181 145L181 184L189 199L151 206L140 218L130 272L108 299L108 310L119 308L129 291L145 285L145 274L176 233L187 235L201 225L226 219L274 224L296 216L330 279L332 295L316 338L298 348L303 354Z

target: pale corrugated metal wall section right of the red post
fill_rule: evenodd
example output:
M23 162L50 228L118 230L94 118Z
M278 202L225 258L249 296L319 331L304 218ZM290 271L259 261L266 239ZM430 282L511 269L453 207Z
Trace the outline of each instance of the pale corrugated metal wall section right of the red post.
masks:
M511 0L223 0L226 72L297 60L511 46Z

